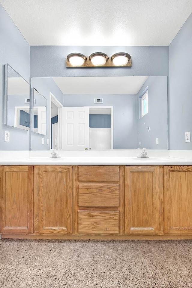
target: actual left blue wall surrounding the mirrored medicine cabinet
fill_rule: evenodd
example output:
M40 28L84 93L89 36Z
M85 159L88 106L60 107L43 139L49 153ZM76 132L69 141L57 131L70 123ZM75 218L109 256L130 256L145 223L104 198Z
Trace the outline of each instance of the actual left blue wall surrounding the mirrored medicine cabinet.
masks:
M29 131L4 125L4 64L29 82L30 46L0 4L0 150L29 150ZM10 142L4 142L10 131Z

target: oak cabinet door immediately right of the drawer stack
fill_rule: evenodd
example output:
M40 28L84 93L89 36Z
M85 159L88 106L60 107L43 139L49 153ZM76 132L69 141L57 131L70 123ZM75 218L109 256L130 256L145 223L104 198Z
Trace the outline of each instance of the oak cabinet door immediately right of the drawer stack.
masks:
M159 167L125 167L125 234L158 234Z

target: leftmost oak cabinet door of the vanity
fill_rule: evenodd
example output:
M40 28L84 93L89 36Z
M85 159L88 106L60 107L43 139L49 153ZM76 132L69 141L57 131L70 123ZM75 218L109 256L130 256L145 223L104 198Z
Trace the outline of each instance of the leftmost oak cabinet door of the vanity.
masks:
M1 233L33 233L33 167L1 167Z

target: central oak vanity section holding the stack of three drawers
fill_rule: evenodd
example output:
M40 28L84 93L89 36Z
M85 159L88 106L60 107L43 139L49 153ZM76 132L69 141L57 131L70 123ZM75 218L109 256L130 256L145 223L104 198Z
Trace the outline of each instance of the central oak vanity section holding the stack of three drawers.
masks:
M123 166L74 167L75 234L122 234Z

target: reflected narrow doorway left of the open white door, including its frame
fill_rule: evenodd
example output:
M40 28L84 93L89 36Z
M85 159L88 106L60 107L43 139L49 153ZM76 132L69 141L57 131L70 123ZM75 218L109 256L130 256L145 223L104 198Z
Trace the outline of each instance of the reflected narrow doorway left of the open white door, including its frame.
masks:
M50 148L62 149L62 107L50 92Z

